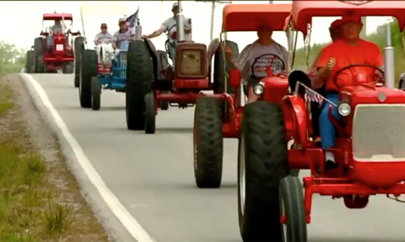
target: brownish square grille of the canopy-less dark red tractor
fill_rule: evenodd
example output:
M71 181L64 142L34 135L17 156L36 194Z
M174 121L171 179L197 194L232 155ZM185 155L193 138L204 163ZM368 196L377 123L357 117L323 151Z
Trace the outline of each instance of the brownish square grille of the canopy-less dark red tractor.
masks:
M197 51L183 51L181 59L181 75L201 75L201 52Z

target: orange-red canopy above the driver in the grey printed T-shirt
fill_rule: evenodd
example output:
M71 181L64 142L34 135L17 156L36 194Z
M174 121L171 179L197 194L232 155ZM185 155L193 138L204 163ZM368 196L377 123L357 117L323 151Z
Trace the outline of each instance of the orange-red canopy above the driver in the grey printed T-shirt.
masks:
M222 12L222 31L256 31L263 26L281 31L291 7L291 4L227 5Z

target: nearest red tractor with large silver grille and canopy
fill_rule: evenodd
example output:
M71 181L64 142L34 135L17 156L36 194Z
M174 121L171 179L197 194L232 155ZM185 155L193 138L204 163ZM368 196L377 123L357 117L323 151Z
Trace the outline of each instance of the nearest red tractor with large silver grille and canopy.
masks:
M287 31L305 37L312 18L325 16L392 16L403 31L405 1L294 1ZM384 71L361 64L333 72L334 80L348 73L358 80L339 89L338 103L324 100L336 129L335 147L326 151L335 155L336 168L325 169L325 152L312 141L305 102L305 92L312 91L309 77L294 71L288 78L260 81L260 101L244 107L238 139L238 219L244 241L307 241L314 193L343 198L349 209L365 208L373 195L400 201L405 193L405 92L393 87L389 28ZM361 68L373 74L364 75ZM236 87L239 77L232 71L230 83ZM332 106L340 121L332 116ZM292 169L310 170L303 186Z

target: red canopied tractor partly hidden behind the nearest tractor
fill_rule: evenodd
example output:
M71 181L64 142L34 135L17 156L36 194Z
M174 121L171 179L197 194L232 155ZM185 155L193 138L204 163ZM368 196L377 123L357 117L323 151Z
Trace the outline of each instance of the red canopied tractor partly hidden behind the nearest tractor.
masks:
M273 31L282 31L285 20L291 11L291 4L249 4L227 5L223 9L222 32L256 31L259 25L270 26ZM226 41L228 44L231 41ZM222 59L225 57L222 56ZM270 59L270 57L269 57ZM282 62L282 61L281 61ZM288 63L283 65L287 66ZM223 138L237 138L244 107L244 95L240 78L234 77L230 70L229 85L225 85L224 100L219 102L209 96L197 100L194 111L194 177L200 188L217 188L222 179ZM232 77L232 78L231 78ZM269 77L270 78L270 77ZM274 76L274 82L283 82L286 76ZM233 96L229 94L233 90ZM272 93L273 98L281 100L286 92Z

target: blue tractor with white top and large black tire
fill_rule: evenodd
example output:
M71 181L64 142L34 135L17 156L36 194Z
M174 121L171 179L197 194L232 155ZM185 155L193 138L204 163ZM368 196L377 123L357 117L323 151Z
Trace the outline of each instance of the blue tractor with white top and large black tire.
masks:
M79 100L82 108L100 109L101 90L125 92L127 85L127 53L129 42L121 42L114 52L85 50L82 55L79 80ZM103 56L109 55L109 56ZM106 65L110 64L110 65Z

